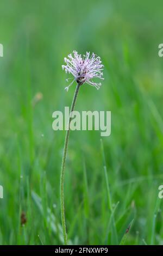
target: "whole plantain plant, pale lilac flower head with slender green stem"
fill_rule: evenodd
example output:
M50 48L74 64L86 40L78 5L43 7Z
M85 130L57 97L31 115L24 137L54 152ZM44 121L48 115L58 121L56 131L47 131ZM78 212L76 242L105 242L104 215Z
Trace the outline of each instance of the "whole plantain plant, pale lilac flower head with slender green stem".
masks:
M68 78L68 80L72 79L73 81L67 86L65 89L68 92L68 89L73 84L74 81L77 82L76 90L74 92L70 116L68 119L67 124L67 131L65 137L65 145L64 145L64 152L62 155L62 164L61 164L61 175L60 175L60 204L61 204L61 222L62 222L62 231L64 235L64 243L67 245L67 233L66 233L66 221L65 221L65 207L64 207L64 176L65 176L65 162L66 162L66 155L67 155L67 146L68 146L68 139L70 135L70 124L71 124L71 113L74 110L76 105L77 96L79 93L79 88L84 84L87 83L90 86L96 87L99 89L101 87L101 83L95 83L92 81L92 78L103 78L103 65L101 64L101 58L97 57L94 53L90 56L90 52L86 52L85 55L78 54L77 51L73 51L72 54L68 55L68 58L65 58L66 65L62 65L62 69L72 74L73 78Z

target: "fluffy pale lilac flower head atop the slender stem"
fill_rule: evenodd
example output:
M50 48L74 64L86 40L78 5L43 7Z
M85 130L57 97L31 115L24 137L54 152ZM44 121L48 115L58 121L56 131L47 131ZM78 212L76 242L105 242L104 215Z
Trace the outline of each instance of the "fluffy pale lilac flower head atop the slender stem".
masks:
M87 83L90 86L96 87L98 90L101 87L101 83L95 83L92 78L103 78L103 65L101 64L101 58L97 57L95 53L90 55L90 52L86 52L85 55L78 54L77 51L73 51L72 54L68 54L68 58L64 58L66 65L62 65L62 69L65 72L72 74L73 78L68 78L66 81L73 79L73 81L65 89L68 92L69 87L74 81L77 81L80 85Z

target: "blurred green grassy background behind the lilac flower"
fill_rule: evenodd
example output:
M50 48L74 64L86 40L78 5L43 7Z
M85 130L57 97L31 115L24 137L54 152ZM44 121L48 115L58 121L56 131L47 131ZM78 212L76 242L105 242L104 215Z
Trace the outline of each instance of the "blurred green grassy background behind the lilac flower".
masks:
M111 111L112 123L103 149L98 131L70 134L68 239L119 244L134 219L125 244L163 244L158 198L163 178L162 5L158 0L1 1L2 245L62 244L59 183L65 131L52 130L52 113L71 105L75 84L65 91L61 65L73 50L95 52L105 66L101 89L84 84L76 110Z

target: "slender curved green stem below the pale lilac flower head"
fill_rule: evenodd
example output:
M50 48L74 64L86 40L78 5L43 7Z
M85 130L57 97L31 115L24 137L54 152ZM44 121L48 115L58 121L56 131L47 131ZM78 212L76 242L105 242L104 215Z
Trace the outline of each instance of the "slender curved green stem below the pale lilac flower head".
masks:
M77 96L79 92L80 84L77 84L76 91L73 96L71 112L74 110L74 106L76 105ZM65 206L64 206L64 176L65 176L65 162L67 155L67 146L68 146L68 138L70 135L70 123L71 123L71 115L69 116L66 137L65 137L65 145L64 145L64 153L62 156L62 165L61 165L61 174L60 174L60 206L61 206L61 221L62 221L62 231L64 235L64 244L67 245L67 233L66 233L66 221L65 221Z

